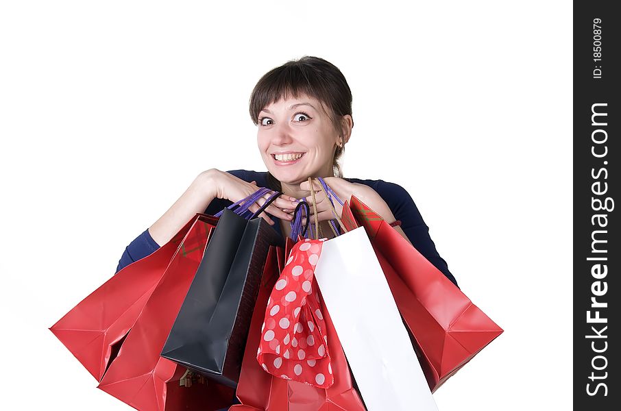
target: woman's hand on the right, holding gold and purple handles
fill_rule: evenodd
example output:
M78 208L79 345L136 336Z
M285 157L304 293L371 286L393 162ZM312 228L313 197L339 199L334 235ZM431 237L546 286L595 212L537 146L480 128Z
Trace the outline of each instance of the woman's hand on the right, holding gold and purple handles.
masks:
M395 221L395 216L393 216L388 204L373 188L365 186L364 184L350 183L339 177L326 177L324 178L324 182L336 193L341 201L350 201L352 195L354 195L357 199L369 206L369 208L372 208L372 210L380 214L388 223ZM310 197L310 184L308 184L308 182L303 182L300 184L300 190L308 191L306 202L308 206L310 206L310 215L313 216L313 199ZM332 208L330 208L329 201L326 195L324 195L324 188L317 179L313 179L313 190L315 190L315 198L317 199L317 217L319 217L319 221L334 219ZM337 214L341 216L343 213L343 206L341 206L336 199L332 199L332 203L334 203L334 209ZM311 223L313 219L314 217L311 217ZM306 223L306 221L304 221L304 223Z

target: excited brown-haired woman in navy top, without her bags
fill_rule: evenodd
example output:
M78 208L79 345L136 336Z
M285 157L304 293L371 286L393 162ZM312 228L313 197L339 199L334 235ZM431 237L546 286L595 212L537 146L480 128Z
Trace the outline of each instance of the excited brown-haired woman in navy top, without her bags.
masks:
M250 116L258 126L257 143L267 173L210 169L200 173L164 215L127 246L117 271L168 242L197 212L216 214L234 201L269 187L283 194L260 214L282 235L291 232L297 200L310 195L308 177L324 177L340 199L361 199L446 275L456 281L439 256L428 227L404 188L382 180L344 178L338 163L350 139L352 92L336 66L316 57L283 64L265 74L250 98ZM317 216L326 235L332 211L321 186ZM269 197L265 196L265 199ZM310 198L310 197L309 197ZM265 202L250 208L258 210ZM342 208L334 202L337 212ZM311 210L312 212L312 210Z

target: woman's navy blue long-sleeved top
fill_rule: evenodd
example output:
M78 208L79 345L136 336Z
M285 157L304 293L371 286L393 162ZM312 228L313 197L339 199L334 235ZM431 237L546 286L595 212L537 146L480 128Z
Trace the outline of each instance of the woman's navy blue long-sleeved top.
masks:
M228 171L228 173L243 179L246 182L256 181L256 185L259 187L269 187L267 184L267 173L257 172L257 171L247 171L247 170L234 170ZM448 266L446 261L440 257L438 251L435 249L435 244L431 237L429 236L429 227L423 221L418 208L416 207L412 197L410 197L409 193L399 186L398 184L393 184L389 182L385 182L382 180L363 180L357 178L345 178L348 182L365 184L365 186L369 186L373 188L384 201L388 204L390 210L392 211L395 219L401 221L401 228L403 232L409 238L412 245L434 266L437 267L448 279L450 279L455 285L457 282L453 275L448 271ZM273 188L273 187L272 187ZM215 199L208 206L207 210L205 210L205 214L216 214L223 208L226 208L232 204L231 201L223 200L223 199ZM277 219L274 216L271 216L271 219L276 223L273 225L274 229L278 232L278 234L282 235L280 231L280 219ZM140 260L149 254L153 253L160 246L157 242L151 237L149 234L149 230L146 229L143 234L136 237L130 245L125 248L123 252L123 256L121 256L121 260L119 260L119 266L117 266L117 272L123 267L131 264L134 261Z

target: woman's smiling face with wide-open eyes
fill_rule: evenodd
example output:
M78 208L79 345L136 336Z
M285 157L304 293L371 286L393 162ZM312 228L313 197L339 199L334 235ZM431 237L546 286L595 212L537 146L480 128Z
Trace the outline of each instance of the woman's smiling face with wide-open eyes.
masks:
M282 183L300 184L311 176L333 175L339 132L312 97L280 99L263 108L257 142L267 170Z

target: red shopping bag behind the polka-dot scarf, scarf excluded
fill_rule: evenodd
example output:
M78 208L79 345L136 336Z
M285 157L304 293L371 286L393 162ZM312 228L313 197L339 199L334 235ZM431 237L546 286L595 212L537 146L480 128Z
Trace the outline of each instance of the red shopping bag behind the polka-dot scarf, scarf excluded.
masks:
M290 244L291 245L291 244ZM282 253L282 249L279 251ZM252 323L244 352L237 398L240 405L230 408L233 411L328 411L328 410L365 410L363 402L353 387L350 368L337 337L334 325L323 304L323 312L328 337L328 351L334 373L334 384L330 388L317 388L288 379L274 377L267 373L257 362L257 353L262 336L262 325L268 299L280 275L279 268L284 266L284 254L276 256L270 253L265 265L264 281L259 290L258 299L252 315ZM317 289L315 287L315 289Z

